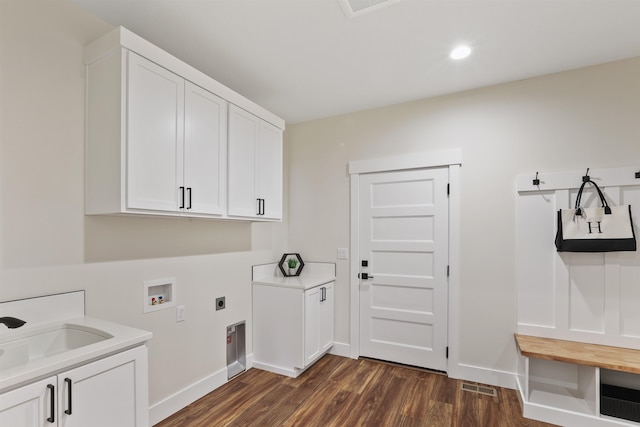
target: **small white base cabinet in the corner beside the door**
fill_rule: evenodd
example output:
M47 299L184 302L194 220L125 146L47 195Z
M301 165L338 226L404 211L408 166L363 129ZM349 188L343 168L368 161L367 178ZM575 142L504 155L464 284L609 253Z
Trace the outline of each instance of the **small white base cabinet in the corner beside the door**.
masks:
M253 366L297 377L333 346L333 288L253 284Z

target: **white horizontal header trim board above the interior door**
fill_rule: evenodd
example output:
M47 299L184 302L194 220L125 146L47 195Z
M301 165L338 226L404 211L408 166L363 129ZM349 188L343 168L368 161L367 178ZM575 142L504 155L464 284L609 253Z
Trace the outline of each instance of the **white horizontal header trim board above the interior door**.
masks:
M352 160L349 162L349 174L353 176L361 173L423 169L461 164L462 150L460 148L454 148L451 150L413 153L378 159Z

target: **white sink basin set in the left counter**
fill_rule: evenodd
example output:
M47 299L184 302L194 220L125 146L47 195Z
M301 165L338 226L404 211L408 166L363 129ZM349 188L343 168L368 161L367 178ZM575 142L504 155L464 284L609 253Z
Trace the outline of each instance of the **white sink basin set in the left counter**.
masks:
M31 331L19 338L11 338L11 341L0 342L0 371L109 338L113 335L72 323Z

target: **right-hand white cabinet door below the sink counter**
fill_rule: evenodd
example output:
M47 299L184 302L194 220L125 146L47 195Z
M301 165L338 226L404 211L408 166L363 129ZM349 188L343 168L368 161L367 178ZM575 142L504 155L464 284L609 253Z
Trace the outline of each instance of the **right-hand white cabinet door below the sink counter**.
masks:
M135 348L59 374L58 425L147 427L148 398L139 391L146 387L136 387L136 375L147 370L138 366L146 363L146 351Z

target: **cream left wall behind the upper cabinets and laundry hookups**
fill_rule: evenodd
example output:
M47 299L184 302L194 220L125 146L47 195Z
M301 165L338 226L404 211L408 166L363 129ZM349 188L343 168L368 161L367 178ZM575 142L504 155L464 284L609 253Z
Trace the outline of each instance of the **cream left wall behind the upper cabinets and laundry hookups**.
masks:
M226 368L227 325L247 321L251 353L251 265L286 226L84 215L82 51L112 28L68 0L0 1L0 301L86 289L88 315L153 332L153 407ZM165 277L185 322L143 314L143 282Z

